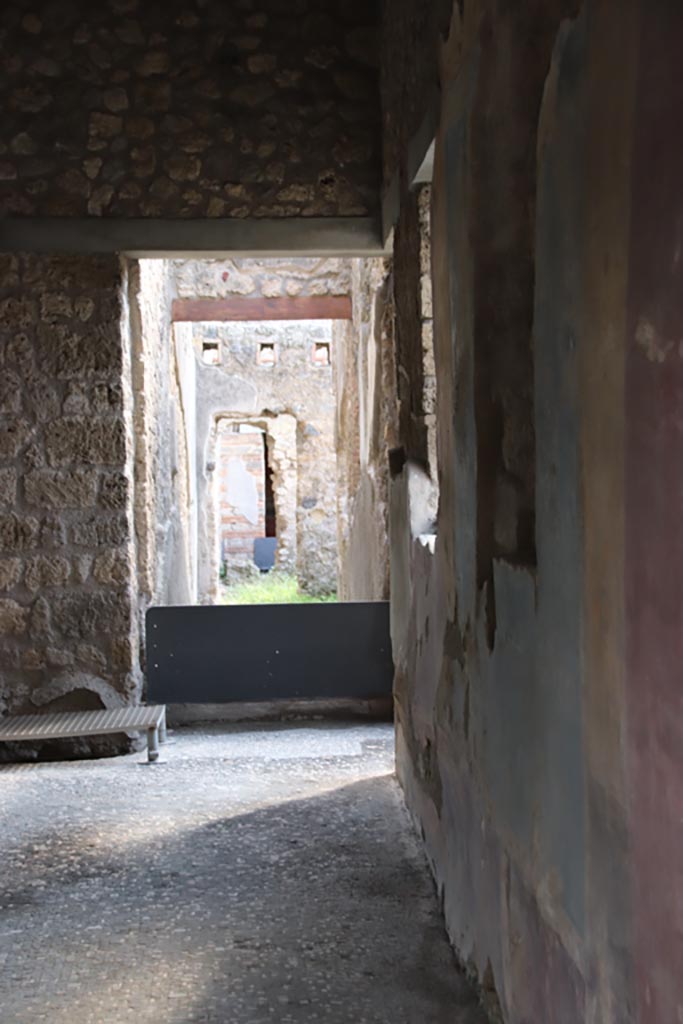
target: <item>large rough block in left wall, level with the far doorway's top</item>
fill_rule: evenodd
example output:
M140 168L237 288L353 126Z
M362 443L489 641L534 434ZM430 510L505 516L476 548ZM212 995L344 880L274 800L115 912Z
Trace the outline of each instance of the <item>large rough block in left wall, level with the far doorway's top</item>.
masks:
M62 417L54 421L45 440L51 466L70 463L121 465L126 458L126 433L120 419Z

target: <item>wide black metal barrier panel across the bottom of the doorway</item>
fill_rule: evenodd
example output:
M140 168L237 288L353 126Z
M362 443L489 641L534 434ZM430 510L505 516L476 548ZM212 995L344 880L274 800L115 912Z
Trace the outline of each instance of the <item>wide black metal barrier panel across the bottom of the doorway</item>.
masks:
M389 696L389 604L150 608L146 656L151 703Z

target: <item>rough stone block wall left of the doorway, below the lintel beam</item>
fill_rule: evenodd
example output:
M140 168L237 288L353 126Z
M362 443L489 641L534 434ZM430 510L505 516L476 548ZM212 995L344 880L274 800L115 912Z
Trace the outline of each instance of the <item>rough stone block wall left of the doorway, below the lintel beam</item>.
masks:
M116 257L0 267L0 712L139 697Z

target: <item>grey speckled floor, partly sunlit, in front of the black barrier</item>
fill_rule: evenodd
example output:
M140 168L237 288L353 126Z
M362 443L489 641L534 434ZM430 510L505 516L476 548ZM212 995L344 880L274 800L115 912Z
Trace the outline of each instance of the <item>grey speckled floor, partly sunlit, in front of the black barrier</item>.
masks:
M388 726L0 770L2 1024L483 1024Z

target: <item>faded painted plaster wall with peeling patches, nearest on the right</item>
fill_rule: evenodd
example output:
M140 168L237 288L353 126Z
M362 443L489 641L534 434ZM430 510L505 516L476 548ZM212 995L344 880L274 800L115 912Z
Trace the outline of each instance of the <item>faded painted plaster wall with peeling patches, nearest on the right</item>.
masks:
M441 70L440 500L432 549L393 480L398 773L495 1014L654 1024L683 1006L683 15L578 7L456 2L415 52Z

